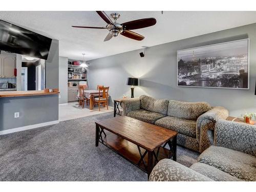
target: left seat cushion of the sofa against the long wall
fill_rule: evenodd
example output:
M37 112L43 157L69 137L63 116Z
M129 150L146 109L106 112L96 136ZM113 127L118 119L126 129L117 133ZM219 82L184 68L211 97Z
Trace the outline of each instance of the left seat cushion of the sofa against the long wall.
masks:
M154 124L156 120L165 117L165 115L162 115L160 113L155 113L155 112L145 111L145 110L131 111L127 114L127 116L147 122L147 123L151 123L151 124Z

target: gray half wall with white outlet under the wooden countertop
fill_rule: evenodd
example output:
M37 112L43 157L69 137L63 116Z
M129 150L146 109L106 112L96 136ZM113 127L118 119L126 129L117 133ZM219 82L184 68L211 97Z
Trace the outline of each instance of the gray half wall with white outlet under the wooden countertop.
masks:
M19 118L14 113L19 112ZM58 120L58 95L0 98L0 131Z

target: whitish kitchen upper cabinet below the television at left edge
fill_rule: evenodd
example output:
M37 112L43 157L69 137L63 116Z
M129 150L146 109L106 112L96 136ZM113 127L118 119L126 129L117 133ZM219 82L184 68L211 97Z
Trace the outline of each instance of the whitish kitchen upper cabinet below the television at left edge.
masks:
M0 77L12 78L14 76L16 57L12 55L0 56Z

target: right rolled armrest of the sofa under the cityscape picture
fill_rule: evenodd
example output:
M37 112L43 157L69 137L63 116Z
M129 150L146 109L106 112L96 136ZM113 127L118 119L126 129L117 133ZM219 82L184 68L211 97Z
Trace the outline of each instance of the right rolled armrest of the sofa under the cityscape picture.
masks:
M214 140L213 130L218 119L226 119L228 110L222 106L215 106L211 110L205 112L197 119L196 136L199 142L199 152L203 152L208 148ZM212 134L210 134L212 132ZM212 137L209 137L212 136Z

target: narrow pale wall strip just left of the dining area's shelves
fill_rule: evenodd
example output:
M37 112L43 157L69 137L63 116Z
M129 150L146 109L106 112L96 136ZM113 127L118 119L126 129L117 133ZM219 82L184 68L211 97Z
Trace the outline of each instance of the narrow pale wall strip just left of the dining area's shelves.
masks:
M68 103L68 57L59 57L59 104Z

